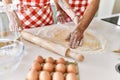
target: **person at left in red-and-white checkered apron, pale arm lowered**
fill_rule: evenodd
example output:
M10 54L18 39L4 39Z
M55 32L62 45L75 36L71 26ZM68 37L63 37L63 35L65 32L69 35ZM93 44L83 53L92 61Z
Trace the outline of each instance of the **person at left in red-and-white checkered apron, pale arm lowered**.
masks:
M5 5L12 0L3 0ZM8 11L11 30L22 30L54 23L50 0L19 0L17 11Z

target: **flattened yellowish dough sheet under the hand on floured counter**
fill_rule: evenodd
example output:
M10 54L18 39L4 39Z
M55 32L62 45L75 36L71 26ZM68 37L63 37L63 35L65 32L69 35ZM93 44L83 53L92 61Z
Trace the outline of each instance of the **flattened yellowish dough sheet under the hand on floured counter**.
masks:
M37 36L40 36L44 39L48 39L52 42L61 44L65 47L69 47L69 42L65 39L69 35L69 33L73 30L73 27L44 27L44 29L39 29ZM87 51L97 51L103 49L102 42L100 37L96 33L90 31L86 31L84 34L84 38L82 40L82 45L77 49L71 49L74 52L87 52ZM102 37L101 37L102 38Z

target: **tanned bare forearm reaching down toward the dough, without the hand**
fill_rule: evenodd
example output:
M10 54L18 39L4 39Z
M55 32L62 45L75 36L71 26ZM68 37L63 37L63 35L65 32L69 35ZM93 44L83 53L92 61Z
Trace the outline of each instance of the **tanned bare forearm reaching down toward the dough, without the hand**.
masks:
M99 7L99 0L91 0L88 4L86 11L83 15L83 17L80 19L79 24L77 25L77 28L80 31L86 30L90 22L92 21L93 17L95 16L97 10Z

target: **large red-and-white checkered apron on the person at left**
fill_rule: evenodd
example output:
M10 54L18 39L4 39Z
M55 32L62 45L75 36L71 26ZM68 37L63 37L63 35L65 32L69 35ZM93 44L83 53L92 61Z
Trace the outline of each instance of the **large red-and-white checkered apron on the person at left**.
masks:
M50 0L19 0L17 7L24 28L54 23Z

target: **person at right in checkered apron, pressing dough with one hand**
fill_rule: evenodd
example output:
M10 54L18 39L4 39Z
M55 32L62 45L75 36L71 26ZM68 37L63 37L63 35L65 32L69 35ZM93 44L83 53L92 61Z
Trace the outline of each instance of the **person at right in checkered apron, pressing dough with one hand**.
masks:
M59 23L73 21L75 30L69 34L67 40L70 47L77 48L83 34L99 8L99 0L54 0Z

